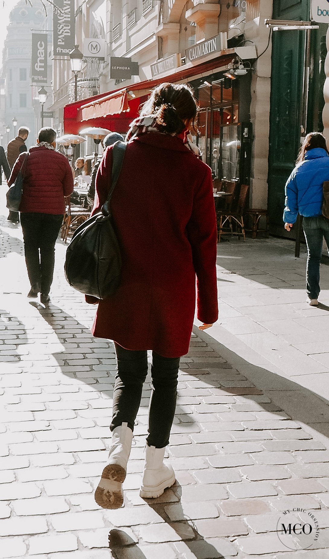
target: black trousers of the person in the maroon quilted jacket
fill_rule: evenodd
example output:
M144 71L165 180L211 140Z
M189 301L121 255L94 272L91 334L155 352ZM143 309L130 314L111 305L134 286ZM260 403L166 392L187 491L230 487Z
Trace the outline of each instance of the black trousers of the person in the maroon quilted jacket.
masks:
M62 221L62 214L21 214L28 279L42 295L48 295L53 282L55 243Z

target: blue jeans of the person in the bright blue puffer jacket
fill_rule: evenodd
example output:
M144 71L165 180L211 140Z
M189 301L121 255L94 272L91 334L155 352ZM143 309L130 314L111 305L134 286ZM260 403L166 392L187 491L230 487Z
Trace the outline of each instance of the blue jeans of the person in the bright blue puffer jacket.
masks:
M317 299L320 293L323 237L327 243L327 250L329 247L329 219L322 215L303 217L303 230L307 244L306 292L309 299Z

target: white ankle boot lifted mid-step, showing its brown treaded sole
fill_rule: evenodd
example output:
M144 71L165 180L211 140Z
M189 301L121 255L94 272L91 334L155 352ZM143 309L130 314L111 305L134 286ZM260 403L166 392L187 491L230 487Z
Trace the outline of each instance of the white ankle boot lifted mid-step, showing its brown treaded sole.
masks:
M131 442L132 430L127 423L113 429L108 465L95 491L96 503L103 509L120 509L123 503L122 484L127 473Z

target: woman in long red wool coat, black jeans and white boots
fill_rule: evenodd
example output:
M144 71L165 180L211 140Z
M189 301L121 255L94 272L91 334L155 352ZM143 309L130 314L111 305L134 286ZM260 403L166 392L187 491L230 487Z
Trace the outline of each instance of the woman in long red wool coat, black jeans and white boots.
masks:
M147 349L152 350L152 394L141 496L159 496L174 484L173 468L163 458L175 413L179 359L189 349L196 276L200 328L218 318L211 169L188 139L196 116L189 87L164 83L155 88L128 132L111 201L122 249L121 285L99 301L92 330L96 337L115 340L118 364L109 463L95 494L104 508L123 502L121 484L147 375ZM109 147L99 165L92 214L107 198L111 167Z

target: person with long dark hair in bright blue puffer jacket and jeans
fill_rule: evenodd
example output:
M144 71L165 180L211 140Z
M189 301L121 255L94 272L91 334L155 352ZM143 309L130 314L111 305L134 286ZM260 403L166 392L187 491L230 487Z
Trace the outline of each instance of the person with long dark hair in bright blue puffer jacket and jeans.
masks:
M297 215L303 216L307 244L306 292L308 304L318 305L323 237L329 248L329 220L322 215L323 182L329 181L329 151L320 132L307 134L296 166L285 184L283 221L290 231ZM328 250L329 254L329 250Z

